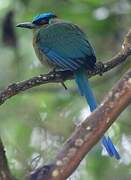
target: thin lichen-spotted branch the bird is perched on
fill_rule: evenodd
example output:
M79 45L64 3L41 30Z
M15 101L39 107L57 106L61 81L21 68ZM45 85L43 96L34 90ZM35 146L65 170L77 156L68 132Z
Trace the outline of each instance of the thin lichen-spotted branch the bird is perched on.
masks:
M122 62L126 61L127 57L131 55L131 29L127 33L121 51L107 62L98 62L93 71L87 71L88 78L101 75L112 68L115 68ZM50 72L48 74L39 75L29 80L17 82L9 85L6 89L0 92L0 104L3 104L7 99L15 96L16 94L30 89L35 86L40 86L46 83L58 83L73 78L73 73L69 72Z

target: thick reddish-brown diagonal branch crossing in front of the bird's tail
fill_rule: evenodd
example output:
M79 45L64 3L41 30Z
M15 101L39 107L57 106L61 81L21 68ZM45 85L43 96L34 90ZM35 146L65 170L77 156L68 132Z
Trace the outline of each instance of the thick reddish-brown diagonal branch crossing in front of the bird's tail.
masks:
M131 70L108 93L100 106L76 128L52 164L31 173L27 180L65 180L131 103Z

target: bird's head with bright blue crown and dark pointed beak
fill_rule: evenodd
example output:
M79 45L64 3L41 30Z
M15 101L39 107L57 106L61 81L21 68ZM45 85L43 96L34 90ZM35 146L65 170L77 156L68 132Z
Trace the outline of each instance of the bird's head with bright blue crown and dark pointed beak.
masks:
M53 18L57 18L54 13L42 13L37 15L32 22L24 22L17 24L16 27L27 28L27 29L36 29L42 25L49 24L49 21Z

